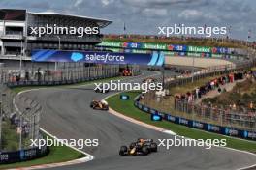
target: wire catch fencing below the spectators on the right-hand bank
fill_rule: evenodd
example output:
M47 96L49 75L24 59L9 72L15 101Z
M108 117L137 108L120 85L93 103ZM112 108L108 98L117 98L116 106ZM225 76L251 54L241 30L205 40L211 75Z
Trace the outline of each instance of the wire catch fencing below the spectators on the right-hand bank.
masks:
M237 108L219 108L211 104L194 104L185 99L175 99L176 111L186 113L188 118L214 125L246 130L256 130L256 112L241 112Z

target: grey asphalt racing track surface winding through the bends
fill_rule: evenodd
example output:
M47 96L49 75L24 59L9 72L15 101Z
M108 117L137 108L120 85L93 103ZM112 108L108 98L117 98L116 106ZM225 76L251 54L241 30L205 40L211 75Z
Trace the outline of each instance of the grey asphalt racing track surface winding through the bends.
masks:
M154 72L155 73L155 72ZM152 72L144 72L145 75ZM139 81L139 77L133 78ZM83 151L94 156L89 162L56 167L61 170L210 170L238 169L256 162L256 157L224 148L159 147L149 156L119 156L121 145L129 145L137 138L173 139L174 136L144 128L115 117L106 111L89 107L92 99L103 99L109 94L95 93L94 86L78 88L49 88L22 95L37 99L44 108L41 127L62 139L99 139L99 146Z

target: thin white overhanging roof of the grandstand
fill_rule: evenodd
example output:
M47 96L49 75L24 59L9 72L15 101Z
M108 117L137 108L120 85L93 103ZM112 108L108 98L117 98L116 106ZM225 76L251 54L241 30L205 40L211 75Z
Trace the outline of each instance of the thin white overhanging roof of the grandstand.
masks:
M51 15L51 16L68 16L68 17L74 17L74 18L81 18L85 20L91 20L95 21L100 28L104 28L112 23L112 20L97 18L97 17L89 17L89 16L82 16L82 15L75 15L75 14L60 14L60 13L54 13L54 12L42 12L42 13L30 13L30 14L36 14L36 15Z

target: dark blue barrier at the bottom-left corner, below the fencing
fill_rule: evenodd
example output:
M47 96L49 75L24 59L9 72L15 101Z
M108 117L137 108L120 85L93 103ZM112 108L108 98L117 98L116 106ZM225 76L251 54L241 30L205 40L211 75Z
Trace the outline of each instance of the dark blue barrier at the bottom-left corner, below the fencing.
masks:
M32 160L38 157L46 156L48 153L49 149L46 145L41 146L40 148L35 147L14 152L2 152L0 154L0 164Z

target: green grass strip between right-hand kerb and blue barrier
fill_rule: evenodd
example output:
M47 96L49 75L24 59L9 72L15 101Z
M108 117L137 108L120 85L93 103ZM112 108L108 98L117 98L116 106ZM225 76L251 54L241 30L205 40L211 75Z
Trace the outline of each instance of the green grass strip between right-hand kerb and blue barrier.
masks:
M129 116L131 118L142 121L149 125L172 130L180 136L186 136L186 137L189 137L192 139L204 139L204 140L206 140L206 139L226 139L227 147L229 147L229 148L248 151L251 153L256 153L256 142L253 142L253 141L246 141L246 140L242 140L239 138L228 137L228 136L215 134L215 133L211 133L211 132L207 132L207 131L203 131L203 130L195 129L195 128L187 128L185 126L170 123L168 121L152 122L150 120L149 114L144 113L143 111L141 111L140 109L138 109L134 106L133 99L137 95L139 95L139 93L128 92L126 94L130 96L130 100L119 99L119 94L107 99L110 107L113 110L115 110L125 116Z

